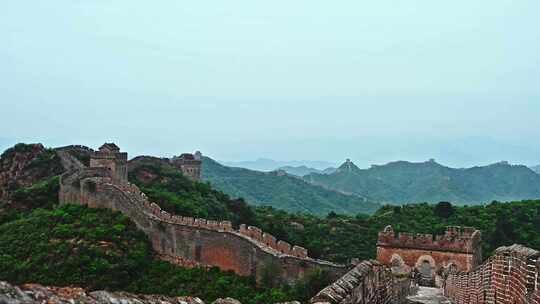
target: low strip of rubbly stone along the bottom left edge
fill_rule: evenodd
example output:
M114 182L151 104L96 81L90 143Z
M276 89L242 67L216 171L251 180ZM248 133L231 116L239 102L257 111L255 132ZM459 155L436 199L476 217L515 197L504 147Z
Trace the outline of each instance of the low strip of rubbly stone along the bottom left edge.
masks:
M194 297L135 295L125 292L93 291L81 288L44 287L26 284L21 287L0 282L0 304L204 304ZM225 302L229 303L229 302ZM231 302L232 303L232 302ZM239 302L238 302L239 303Z

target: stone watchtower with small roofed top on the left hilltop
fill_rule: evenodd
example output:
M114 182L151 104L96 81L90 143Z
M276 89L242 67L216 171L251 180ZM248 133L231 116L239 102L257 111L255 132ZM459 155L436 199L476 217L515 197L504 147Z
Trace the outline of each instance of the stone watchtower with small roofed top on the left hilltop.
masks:
M91 168L107 168L116 182L127 182L127 153L114 143L105 143L90 157Z

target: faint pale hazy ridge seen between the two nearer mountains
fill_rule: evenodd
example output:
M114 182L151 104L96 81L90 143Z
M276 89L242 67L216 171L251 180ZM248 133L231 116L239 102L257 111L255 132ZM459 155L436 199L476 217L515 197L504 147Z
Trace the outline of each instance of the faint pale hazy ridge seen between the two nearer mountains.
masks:
M278 161L268 158L259 158L257 160L249 161L220 161L219 163L229 167L246 168L256 171L275 171L283 167L301 167L314 168L315 170L324 170L329 167L336 167L337 163L331 163L327 161L313 161L313 160L291 160L291 161ZM292 174L292 173L291 173ZM294 174L296 175L296 174Z

